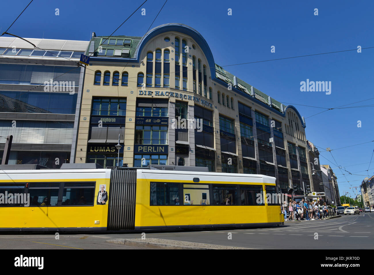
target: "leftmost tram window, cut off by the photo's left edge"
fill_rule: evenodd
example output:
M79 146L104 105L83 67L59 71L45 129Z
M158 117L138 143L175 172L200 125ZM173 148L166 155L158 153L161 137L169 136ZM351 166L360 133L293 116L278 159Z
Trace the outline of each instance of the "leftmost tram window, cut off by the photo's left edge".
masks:
M24 206L28 204L25 197L25 184L0 184L0 206Z

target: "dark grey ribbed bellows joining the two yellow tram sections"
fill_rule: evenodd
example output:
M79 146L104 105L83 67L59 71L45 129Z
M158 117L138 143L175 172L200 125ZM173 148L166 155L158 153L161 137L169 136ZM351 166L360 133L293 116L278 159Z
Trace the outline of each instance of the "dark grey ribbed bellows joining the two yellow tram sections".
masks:
M135 229L137 170L112 170L108 209L108 230Z

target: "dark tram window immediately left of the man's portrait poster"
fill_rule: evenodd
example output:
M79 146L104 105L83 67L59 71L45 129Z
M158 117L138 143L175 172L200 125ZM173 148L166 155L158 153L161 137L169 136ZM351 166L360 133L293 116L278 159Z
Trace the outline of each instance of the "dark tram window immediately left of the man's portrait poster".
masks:
M62 193L62 206L93 206L95 183L68 182Z

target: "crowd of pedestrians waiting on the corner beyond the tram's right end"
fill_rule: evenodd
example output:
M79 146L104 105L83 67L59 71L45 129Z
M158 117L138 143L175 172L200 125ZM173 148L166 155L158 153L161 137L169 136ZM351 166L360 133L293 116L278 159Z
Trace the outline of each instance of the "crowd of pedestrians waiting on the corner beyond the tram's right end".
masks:
M304 198L301 201L289 200L282 205L282 214L284 214L284 220L327 220L328 212L327 205L322 205L322 214L319 211L319 201L305 201ZM288 218L287 218L287 213Z

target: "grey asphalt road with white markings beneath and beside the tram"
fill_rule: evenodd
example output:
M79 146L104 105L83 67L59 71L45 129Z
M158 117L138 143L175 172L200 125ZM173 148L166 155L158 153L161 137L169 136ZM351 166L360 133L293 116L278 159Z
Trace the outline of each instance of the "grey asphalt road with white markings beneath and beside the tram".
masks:
M140 233L66 233L56 240L55 235L0 235L0 249L137 249L105 241L140 237ZM374 213L286 222L272 228L146 233L145 237L260 249L374 249Z

